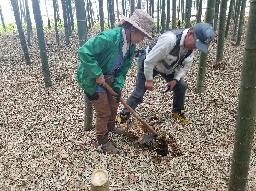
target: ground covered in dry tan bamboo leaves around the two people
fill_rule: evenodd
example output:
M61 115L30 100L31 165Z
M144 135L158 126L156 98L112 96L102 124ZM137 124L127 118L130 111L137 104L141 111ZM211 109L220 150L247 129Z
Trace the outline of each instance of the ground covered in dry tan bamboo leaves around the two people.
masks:
M232 26L230 26L232 28ZM92 37L99 29L89 29ZM215 63L217 43L210 44L205 92L196 93L200 53L184 75L188 84L185 109L190 125L171 118L172 92L154 79L136 112L158 132L165 130L169 154L156 154L156 141L110 135L118 155L103 154L94 130L85 132L84 96L76 82L79 64L77 31L71 44L55 42L54 29L45 29L53 86L45 88L39 47L34 31L26 65L17 31L0 34L0 190L90 190L91 174L102 168L110 190L226 190L236 127L246 24L240 46L225 39L223 61ZM159 35L159 34L158 34ZM157 36L157 35L156 35ZM155 37L156 37L155 36ZM148 45L145 39L137 49ZM134 89L136 62L127 75L124 99ZM120 105L120 110L122 106ZM130 119L140 134L139 124ZM255 136L254 136L255 138ZM253 143L247 190L256 190L256 145Z

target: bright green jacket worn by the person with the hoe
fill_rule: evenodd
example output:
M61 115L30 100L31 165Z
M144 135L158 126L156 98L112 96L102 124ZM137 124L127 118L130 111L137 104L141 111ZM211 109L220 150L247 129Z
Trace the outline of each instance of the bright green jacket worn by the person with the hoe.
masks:
M88 40L78 49L81 61L77 68L76 79L80 87L89 94L94 94L97 88L96 77L106 73L113 65L118 55L118 46L122 35L122 27L101 32ZM126 74L132 64L132 55L136 46L130 49L130 60L125 59L123 65L115 71L113 87L124 87Z

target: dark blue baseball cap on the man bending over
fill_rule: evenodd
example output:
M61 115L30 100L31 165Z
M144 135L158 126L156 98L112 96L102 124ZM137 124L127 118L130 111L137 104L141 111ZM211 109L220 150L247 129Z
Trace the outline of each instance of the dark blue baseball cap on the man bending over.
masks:
M208 44L214 38L214 30L211 24L197 23L191 29L194 30L196 49L199 49L200 51L206 53Z

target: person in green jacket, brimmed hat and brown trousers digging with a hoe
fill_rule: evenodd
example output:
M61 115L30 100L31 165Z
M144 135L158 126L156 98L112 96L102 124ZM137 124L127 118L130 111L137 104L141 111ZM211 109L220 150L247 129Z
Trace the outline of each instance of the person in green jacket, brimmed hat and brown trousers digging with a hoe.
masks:
M103 31L78 49L81 61L77 69L77 82L83 88L96 112L95 133L103 152L117 154L107 132L123 134L115 127L115 118L124 87L126 74L132 64L135 44L149 37L154 22L150 15L136 9L128 18L123 16L121 27ZM113 98L103 86L110 85L117 96Z

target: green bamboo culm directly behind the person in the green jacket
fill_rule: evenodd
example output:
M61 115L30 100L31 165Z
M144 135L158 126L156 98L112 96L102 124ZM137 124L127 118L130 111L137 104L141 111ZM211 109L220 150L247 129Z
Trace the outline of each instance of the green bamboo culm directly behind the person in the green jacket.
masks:
M77 20L77 30L78 30L78 39L79 46L83 46L87 40L87 23L86 23L86 12L85 12L85 2L84 0L76 0L76 20ZM86 94L84 94L84 104L85 104L85 115L84 115L84 130L92 130L92 104Z

